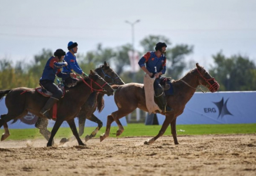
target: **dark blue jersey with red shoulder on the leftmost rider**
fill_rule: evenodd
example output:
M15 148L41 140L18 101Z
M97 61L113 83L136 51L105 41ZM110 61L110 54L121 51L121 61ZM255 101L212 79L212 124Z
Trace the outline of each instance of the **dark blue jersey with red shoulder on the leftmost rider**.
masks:
M59 59L50 57L46 62L45 69L40 80L51 80L54 82L56 75L58 77L66 78L69 74L61 72L61 68L65 66L64 62L59 62Z

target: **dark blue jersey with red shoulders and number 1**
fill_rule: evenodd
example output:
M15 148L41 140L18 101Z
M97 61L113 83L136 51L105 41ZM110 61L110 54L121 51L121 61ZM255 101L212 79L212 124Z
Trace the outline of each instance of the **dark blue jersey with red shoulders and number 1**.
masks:
M138 62L140 67L145 66L150 73L166 73L166 56L156 56L155 52L147 52ZM155 68L156 67L156 68Z

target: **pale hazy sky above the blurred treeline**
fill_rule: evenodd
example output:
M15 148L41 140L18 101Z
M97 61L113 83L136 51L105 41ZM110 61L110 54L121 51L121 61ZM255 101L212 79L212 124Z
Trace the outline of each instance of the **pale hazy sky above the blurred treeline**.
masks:
M0 59L32 62L42 49L67 51L69 41L78 53L132 43L149 35L169 38L173 47L194 46L194 60L208 68L213 55L241 54L256 63L255 0L0 0Z

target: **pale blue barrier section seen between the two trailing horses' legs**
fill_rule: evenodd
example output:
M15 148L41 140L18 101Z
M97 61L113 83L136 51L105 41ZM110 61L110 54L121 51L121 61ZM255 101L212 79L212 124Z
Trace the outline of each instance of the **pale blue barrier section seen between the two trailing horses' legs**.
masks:
M101 113L98 111L95 111L95 116L100 119L103 122L103 126L106 126L107 124L107 116L114 111L117 110L117 106L114 103L114 96L104 96L105 101L105 108L102 110ZM5 106L5 97L0 101L0 114L6 114L8 112L6 106ZM9 128L35 128L36 120L38 120L38 116L35 116L32 113L28 113L25 117L22 117L19 119L16 123L11 124L12 120L9 121L8 127ZM126 118L123 117L120 119L120 122L123 124L123 126L127 126ZM78 118L75 118L76 127L78 127ZM53 127L55 124L54 120L48 121L48 127ZM112 126L117 126L116 122L112 123ZM69 127L69 124L66 121L63 121L62 126L60 127ZM85 121L85 127L97 127L97 124L87 120Z

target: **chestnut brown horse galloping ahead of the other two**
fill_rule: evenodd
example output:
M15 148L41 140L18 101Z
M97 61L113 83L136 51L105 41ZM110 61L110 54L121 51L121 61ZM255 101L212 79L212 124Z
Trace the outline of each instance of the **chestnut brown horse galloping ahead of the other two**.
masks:
M171 134L173 135L174 144L178 144L177 133L176 133L176 119L183 113L185 105L191 99L193 94L196 92L197 86L203 85L208 88L211 92L216 92L220 85L218 82L211 77L211 75L204 70L203 67L196 63L196 68L187 73L183 78L173 81L172 96L167 96L167 104L172 107L174 111L166 113L166 119L164 120L163 126L157 136L146 141L144 144L152 144L157 138L163 136L169 124L171 125ZM109 136L110 127L113 121L116 121L119 126L116 136L120 136L123 133L123 126L119 119L131 113L137 107L144 111L148 111L145 101L145 93L143 84L129 83L122 86L112 86L113 89L117 89L114 93L114 101L118 107L117 111L114 111L111 115L107 116L107 126L105 134L100 136L100 141L103 141Z

